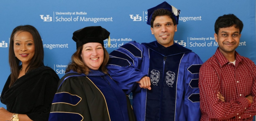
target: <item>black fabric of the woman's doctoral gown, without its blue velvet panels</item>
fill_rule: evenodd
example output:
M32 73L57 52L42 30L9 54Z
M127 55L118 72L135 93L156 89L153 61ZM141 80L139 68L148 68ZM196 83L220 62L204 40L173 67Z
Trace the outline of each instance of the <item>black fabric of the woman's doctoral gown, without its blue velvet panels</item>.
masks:
M56 93L69 93L79 96L82 100L77 105L67 105L65 103L53 103L49 120L57 121L64 120L61 117L56 117L56 112L72 112L74 114L81 114L84 121L109 121L107 105L105 98L102 96L99 89L86 76L75 76L76 73L68 73L64 75L58 83L58 91ZM67 78L68 77L68 78ZM63 81L66 79L65 81ZM135 116L132 106L127 99L127 108L130 121L135 121ZM97 107L97 108L96 108ZM74 119L79 119L73 117Z

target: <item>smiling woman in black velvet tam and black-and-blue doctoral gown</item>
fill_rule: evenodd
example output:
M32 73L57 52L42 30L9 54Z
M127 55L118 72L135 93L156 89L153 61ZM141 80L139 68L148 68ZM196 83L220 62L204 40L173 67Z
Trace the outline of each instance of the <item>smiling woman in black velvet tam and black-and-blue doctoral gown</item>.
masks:
M108 75L103 41L109 32L90 26L73 33L77 51L58 84L49 121L135 120L127 95Z

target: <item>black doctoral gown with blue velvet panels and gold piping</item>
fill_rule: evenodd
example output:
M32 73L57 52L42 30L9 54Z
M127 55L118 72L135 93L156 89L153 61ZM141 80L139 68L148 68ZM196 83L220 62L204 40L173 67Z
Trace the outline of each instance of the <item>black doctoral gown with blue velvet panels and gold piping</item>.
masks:
M126 94L109 75L98 70L72 73L59 81L49 121L135 120Z

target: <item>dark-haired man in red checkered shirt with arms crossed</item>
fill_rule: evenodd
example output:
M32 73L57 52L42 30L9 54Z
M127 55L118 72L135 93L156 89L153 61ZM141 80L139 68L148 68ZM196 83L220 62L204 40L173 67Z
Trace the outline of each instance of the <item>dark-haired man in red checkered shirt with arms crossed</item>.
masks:
M252 121L256 114L256 66L235 51L242 29L234 14L215 22L219 47L199 73L201 121Z

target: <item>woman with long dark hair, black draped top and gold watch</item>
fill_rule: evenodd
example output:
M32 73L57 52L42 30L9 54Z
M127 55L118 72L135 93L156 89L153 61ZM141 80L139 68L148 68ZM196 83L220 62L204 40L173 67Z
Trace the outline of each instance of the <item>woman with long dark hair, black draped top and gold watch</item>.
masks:
M47 121L59 76L44 66L40 34L31 25L17 26L11 34L11 74L2 90L0 120Z

